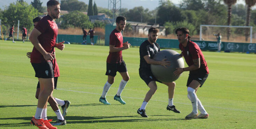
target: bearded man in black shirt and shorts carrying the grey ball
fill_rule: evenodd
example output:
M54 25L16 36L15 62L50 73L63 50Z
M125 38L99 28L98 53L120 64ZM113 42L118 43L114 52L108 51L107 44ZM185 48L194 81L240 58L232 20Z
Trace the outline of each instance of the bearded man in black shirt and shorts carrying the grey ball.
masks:
M137 110L137 113L142 117L148 117L145 111L145 108L148 104L148 101L151 99L153 94L157 90L156 81L163 83L168 86L168 105L166 107L167 110L173 111L175 113L181 113L178 111L173 105L173 97L174 97L174 89L175 82L161 82L157 80L151 72L150 64L160 64L164 67L170 66L170 61L166 61L167 59L163 59L161 61L157 61L153 59L153 56L160 51L159 45L156 43L158 38L159 29L151 27L148 30L148 39L145 40L140 45L140 68L139 74L141 79L147 84L150 88L147 92L144 101L142 102L141 107Z

